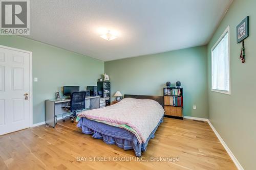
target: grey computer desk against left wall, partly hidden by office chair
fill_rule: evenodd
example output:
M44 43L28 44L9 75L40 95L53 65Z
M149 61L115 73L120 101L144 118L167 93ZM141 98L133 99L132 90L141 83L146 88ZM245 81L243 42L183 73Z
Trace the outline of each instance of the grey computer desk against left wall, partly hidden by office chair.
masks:
M97 109L99 108L99 98L100 96L86 96L86 108L85 109ZM70 113L70 110L62 108L66 106L67 103L70 103L70 99L57 100L49 99L45 101L45 112L46 112L46 124L55 127L56 125L56 116L62 115L65 113Z

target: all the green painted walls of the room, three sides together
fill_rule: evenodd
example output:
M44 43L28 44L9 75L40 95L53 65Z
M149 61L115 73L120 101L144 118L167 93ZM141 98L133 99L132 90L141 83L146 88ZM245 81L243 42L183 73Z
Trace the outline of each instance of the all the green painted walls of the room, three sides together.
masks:
M103 62L19 36L0 36L0 44L33 52L33 123L45 120L44 101L63 85L96 85L105 72L113 94L162 95L165 82L181 81L184 115L210 119L244 169L254 169L256 157L256 1L234 0L207 46ZM239 60L236 26L250 16L245 40L246 62ZM230 26L231 95L212 92L210 49ZM207 56L207 57L206 57ZM193 109L193 105L197 109Z

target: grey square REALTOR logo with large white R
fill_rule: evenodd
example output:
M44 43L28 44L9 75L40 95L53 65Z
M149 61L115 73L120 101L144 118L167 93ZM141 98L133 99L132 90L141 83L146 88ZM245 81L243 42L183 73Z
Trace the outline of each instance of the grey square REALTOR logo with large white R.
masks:
M0 0L1 35L29 35L29 0Z

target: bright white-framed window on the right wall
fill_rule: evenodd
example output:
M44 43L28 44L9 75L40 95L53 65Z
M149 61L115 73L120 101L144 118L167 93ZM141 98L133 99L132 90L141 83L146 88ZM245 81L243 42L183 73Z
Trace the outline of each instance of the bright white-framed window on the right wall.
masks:
M211 90L230 94L229 27L211 48Z

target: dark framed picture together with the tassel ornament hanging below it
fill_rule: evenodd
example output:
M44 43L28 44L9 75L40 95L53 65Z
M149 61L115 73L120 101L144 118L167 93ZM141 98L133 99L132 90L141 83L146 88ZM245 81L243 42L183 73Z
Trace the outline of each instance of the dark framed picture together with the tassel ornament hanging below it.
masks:
M244 39L249 36L249 16L244 18L242 22L237 26L237 43L242 41L240 60L242 63L245 62L245 48L244 48Z

